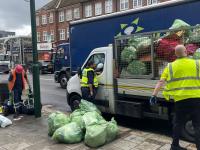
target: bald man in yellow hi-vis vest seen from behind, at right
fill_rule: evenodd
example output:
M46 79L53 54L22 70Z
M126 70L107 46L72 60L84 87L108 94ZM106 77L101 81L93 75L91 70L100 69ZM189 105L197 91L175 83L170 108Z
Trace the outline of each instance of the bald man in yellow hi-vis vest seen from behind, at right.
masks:
M150 104L157 103L156 96L166 84L163 96L166 100L175 102L171 150L186 150L179 145L179 138L187 117L192 119L196 147L200 150L200 61L187 57L183 45L176 46L175 54L177 59L164 69L150 98Z

